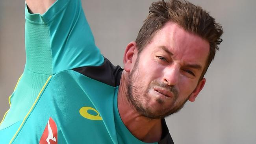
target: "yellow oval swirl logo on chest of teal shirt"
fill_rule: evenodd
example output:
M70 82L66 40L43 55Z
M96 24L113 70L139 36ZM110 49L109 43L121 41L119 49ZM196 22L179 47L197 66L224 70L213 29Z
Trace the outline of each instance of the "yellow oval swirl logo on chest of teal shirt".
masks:
M97 115L89 114L88 113L89 110L94 111L95 113L97 113ZM79 110L79 113L81 114L81 116L83 116L84 118L87 118L89 120L102 120L102 118L100 117L99 112L96 109L92 108L92 107L82 107Z

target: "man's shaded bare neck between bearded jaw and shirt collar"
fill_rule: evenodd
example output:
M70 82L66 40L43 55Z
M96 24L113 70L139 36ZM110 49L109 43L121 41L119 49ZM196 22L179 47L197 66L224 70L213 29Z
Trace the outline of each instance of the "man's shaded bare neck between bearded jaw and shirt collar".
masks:
M127 97L127 73L124 71L121 76L117 105L120 117L124 125L139 140L143 142L158 142L161 139L161 119L149 119L142 116Z

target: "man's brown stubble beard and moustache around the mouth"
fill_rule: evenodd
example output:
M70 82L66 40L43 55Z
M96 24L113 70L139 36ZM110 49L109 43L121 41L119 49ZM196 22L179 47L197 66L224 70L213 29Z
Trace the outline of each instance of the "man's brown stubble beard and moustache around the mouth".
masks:
M164 87L165 89L167 87L170 88L170 86L167 86L166 84L163 83L159 83L157 81L152 81L152 83L150 83L150 85L147 87L147 90L144 92L141 92L141 90L143 90L143 86L142 85L136 85L136 81L139 81L139 76L135 74L135 72L139 73L138 71L138 59L136 59L135 61L135 65L134 65L134 69L132 70L132 72L129 74L128 76L128 84L127 84L127 99L130 103L130 105L132 107L135 108L135 110L141 114L142 116L145 116L149 119L160 119L160 118L166 118L167 116L170 116L171 114L177 113L178 111L180 111L180 109L182 109L182 107L184 106L184 104L187 102L187 100L189 99L189 96L187 96L187 98L185 100L182 100L180 102L176 102L177 98L178 98L178 91L176 90L175 87L172 87L172 89L170 89L171 92L173 92L173 103L167 107L166 109L163 109L162 111L159 112L155 112L152 107L150 107L149 105L147 105L147 99L148 99L148 90L150 88L152 88L153 86L160 86L160 87ZM143 96L141 96L141 94ZM156 99L156 101L159 104L163 104L165 103L163 100L161 99ZM175 103L176 102L176 103ZM175 103L175 105L174 105Z

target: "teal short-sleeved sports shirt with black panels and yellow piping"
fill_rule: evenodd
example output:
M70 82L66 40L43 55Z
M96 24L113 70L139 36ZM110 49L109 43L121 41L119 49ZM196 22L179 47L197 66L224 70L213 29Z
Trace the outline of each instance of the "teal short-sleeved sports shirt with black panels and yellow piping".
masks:
M0 123L0 144L145 144L117 108L122 74L95 46L80 0L25 9L26 65ZM158 143L173 143L165 121Z

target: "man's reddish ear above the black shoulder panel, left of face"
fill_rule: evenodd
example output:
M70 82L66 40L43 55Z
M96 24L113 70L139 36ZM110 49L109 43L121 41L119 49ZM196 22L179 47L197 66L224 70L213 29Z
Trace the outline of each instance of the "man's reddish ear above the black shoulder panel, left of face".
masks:
M130 42L124 52L124 70L126 72L130 72L132 70L132 64L135 62L137 58L137 47L136 47L136 42Z

